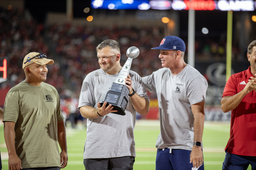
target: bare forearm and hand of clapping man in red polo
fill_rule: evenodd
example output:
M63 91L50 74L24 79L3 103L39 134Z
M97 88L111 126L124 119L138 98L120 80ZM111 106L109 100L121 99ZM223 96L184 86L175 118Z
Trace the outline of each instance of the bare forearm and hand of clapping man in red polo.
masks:
M236 107L240 104L242 99L246 94L253 91L255 88L254 81L249 80L249 82L245 85L245 88L239 93L233 96L225 96L221 99L221 109L224 113L229 112L230 110L236 109Z

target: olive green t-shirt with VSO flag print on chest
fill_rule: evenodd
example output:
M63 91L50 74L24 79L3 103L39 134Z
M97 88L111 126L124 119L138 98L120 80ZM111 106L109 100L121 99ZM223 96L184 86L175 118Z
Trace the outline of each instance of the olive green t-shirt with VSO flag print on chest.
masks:
M5 98L3 121L15 124L15 149L22 168L61 166L57 122L64 117L57 90L23 81Z

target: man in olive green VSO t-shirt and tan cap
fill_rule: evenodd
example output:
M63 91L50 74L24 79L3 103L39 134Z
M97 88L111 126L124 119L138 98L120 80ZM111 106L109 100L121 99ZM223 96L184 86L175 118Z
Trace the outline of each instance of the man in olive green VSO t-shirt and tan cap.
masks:
M64 117L57 90L43 81L45 54L30 52L23 60L26 79L5 98L4 136L12 170L59 170L67 166ZM61 148L59 153L58 143Z

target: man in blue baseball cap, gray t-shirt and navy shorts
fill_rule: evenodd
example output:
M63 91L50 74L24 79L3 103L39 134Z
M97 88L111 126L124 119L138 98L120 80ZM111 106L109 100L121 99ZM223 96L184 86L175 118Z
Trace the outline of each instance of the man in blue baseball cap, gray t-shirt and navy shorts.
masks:
M186 64L184 41L167 36L160 46L162 67L142 78L158 96L161 132L156 142L156 170L184 170L203 164L202 135L207 81ZM202 165L199 170L203 170Z

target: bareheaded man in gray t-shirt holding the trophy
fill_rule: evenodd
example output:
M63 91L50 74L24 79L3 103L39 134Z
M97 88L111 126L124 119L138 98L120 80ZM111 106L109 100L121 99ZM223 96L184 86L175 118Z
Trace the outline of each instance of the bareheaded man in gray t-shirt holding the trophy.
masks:
M78 109L87 118L84 166L91 169L133 169L135 142L133 129L136 111L146 115L149 98L142 85L141 77L130 70L125 79L129 89L125 115L113 114L111 104L107 105L105 94L118 77L120 47L115 40L105 40L96 48L101 69L89 73L82 85Z

